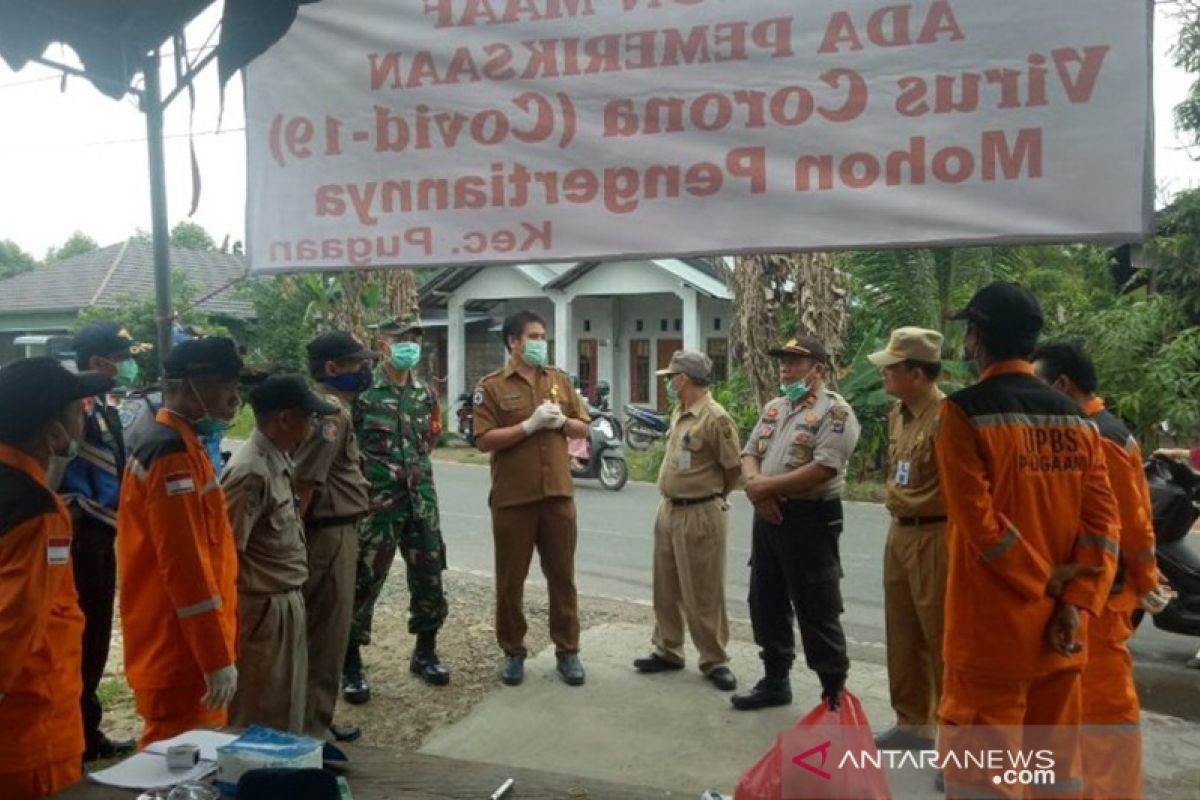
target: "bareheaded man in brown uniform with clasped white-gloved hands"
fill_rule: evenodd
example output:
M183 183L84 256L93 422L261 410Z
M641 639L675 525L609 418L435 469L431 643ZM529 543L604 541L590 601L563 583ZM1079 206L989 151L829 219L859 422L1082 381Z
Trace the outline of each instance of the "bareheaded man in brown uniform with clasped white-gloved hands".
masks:
M588 435L588 413L571 380L547 367L546 324L528 311L504 320L509 363L475 389L475 446L492 453L492 537L496 542L496 638L502 680L524 680L524 581L534 549L550 590L550 637L558 674L582 686L575 593L575 486L566 439ZM564 332L565 335L565 332Z

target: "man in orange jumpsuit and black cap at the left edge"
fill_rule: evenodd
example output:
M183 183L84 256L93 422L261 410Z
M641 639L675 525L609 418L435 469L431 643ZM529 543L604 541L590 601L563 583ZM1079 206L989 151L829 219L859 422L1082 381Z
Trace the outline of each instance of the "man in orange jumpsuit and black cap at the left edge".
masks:
M78 453L83 398L112 379L53 359L0 369L0 795L44 798L83 770L83 612L71 515L47 479Z

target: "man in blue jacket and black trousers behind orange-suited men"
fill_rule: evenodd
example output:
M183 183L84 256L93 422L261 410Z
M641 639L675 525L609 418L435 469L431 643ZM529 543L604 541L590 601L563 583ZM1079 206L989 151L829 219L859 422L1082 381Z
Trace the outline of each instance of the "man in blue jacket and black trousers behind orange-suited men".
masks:
M74 336L76 366L80 372L98 372L130 387L138 377L137 344L120 325L92 323ZM79 608L86 625L83 631L83 734L84 760L115 758L133 752L133 740L114 741L100 729L103 709L96 690L108 663L113 638L113 606L116 601L116 507L121 495L126 447L121 417L106 395L83 403L83 443L79 457L62 474L59 493L71 509L74 536L71 561L74 565Z

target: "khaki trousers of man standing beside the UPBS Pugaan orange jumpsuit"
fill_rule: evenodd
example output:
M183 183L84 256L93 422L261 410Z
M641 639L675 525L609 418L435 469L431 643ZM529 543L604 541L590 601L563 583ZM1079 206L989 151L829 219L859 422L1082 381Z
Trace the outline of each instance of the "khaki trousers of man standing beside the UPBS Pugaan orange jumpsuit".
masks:
M946 523L888 529L883 553L883 609L888 685L896 723L932 738L942 694L946 607Z

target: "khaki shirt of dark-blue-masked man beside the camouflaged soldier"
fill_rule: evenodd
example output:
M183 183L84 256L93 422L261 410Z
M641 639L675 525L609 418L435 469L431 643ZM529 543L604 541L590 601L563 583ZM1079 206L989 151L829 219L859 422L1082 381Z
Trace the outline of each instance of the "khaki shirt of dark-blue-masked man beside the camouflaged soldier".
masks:
M328 386L317 386L316 391L337 405L337 413L322 417L317 432L295 455L296 481L317 486L308 517L365 515L370 507L371 483L362 475L362 453L350 405Z

